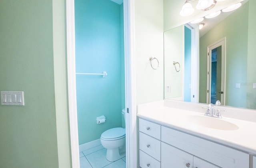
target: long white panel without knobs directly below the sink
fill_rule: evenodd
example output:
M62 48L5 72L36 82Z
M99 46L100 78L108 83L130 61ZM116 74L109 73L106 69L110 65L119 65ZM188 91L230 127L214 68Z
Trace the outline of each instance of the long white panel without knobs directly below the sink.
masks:
M162 141L223 168L248 168L249 154L162 126Z

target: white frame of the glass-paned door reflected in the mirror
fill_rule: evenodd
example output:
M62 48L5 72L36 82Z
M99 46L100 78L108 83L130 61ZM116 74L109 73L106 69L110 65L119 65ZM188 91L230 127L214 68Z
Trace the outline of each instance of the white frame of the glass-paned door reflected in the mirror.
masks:
M206 103L211 102L211 82L212 82L212 50L221 47L221 104L225 105L226 95L226 37L214 42L207 47L207 90L206 90Z

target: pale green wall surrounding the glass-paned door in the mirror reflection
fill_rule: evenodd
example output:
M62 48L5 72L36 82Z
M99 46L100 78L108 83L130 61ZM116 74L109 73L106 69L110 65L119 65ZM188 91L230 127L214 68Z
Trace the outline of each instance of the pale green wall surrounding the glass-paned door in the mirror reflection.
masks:
M200 38L199 102L206 103L207 46L226 37L226 104L246 107L248 4L246 3ZM239 39L239 40L238 40ZM235 88L241 83L240 89ZM204 89L203 89L204 88Z

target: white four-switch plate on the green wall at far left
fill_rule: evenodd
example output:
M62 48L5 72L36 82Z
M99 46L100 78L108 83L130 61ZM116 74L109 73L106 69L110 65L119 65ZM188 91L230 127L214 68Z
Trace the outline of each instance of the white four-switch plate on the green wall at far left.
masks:
M24 106L24 92L1 91L1 104Z

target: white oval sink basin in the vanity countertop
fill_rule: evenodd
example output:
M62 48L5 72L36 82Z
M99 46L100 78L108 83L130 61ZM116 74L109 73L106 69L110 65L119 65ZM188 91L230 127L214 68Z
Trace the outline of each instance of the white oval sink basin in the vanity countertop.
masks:
M220 118L213 118L208 116L188 116L186 118L186 122L196 125L202 126L206 128L212 128L216 130L237 130L238 126L235 124L224 121Z

